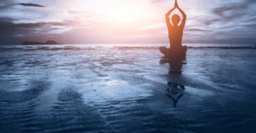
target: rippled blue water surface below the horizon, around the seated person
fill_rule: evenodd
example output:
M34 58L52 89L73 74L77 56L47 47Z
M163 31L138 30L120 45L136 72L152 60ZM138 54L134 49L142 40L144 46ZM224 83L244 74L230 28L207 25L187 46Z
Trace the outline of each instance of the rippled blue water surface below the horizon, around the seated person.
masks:
M0 46L0 132L255 132L256 45L186 45Z

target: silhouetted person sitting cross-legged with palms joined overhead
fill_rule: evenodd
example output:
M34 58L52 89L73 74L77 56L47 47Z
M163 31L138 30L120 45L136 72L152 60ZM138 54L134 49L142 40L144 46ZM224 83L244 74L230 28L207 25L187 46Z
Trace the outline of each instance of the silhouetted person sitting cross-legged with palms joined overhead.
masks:
M174 14L171 17L170 21L170 14L173 12L173 10L180 11L182 14L182 23L180 23L180 16L177 14ZM183 55L186 56L186 46L182 46L182 36L183 36L183 30L186 23L186 14L182 9L180 9L179 5L177 5L177 0L175 0L174 7L165 14L166 23L168 27L168 33L169 33L169 42L170 42L170 48L166 47L160 47L160 52L163 53L165 56L169 57L170 55L178 56ZM171 23L172 22L172 23Z

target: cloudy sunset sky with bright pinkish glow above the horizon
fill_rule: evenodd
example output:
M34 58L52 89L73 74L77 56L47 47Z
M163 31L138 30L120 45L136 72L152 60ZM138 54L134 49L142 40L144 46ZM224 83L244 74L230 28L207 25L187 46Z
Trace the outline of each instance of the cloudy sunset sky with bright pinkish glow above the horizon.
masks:
M168 43L174 0L1 0L0 44ZM255 0L178 0L184 43L255 43Z

